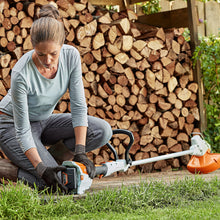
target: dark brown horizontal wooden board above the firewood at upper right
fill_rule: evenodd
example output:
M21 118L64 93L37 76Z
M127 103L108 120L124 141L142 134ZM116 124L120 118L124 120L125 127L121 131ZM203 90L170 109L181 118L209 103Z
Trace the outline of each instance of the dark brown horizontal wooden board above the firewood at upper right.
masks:
M163 28L188 27L187 8L138 17L138 22Z

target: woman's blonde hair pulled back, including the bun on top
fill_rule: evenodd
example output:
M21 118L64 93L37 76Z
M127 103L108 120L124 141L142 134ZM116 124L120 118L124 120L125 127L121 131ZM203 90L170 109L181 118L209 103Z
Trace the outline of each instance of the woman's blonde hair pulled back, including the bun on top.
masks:
M49 40L63 45L65 30L56 7L48 4L41 8L38 13L38 19L32 24L30 35L33 47L40 42Z

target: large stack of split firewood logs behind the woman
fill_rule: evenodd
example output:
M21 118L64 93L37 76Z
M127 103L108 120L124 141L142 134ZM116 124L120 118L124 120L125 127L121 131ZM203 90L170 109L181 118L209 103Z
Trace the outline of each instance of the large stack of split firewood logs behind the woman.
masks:
M4 2L0 11L0 99L10 88L10 72L32 49L30 27L46 0ZM135 142L133 160L189 148L198 131L198 84L193 81L191 50L181 29L164 30L135 22L136 14L109 12L88 0L56 1L66 30L66 43L82 58L88 114L105 119L112 129L128 129ZM67 92L55 113L69 112ZM129 138L115 135L111 144L123 158ZM95 164L114 159L103 146L88 153ZM189 156L142 165L144 172L179 168ZM136 167L130 168L133 173Z

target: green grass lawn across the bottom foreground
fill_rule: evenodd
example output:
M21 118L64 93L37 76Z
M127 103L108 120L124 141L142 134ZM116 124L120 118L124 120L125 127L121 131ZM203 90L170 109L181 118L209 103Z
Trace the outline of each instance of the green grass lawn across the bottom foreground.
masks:
M39 194L22 183L5 185L0 193L1 219L220 219L217 178L142 182L79 200Z

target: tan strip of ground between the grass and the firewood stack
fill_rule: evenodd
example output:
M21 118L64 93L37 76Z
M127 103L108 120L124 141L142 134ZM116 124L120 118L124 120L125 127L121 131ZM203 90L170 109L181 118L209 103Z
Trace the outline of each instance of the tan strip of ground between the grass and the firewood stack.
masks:
M201 176L205 180L210 180L217 177L220 180L220 169L209 173L209 174L191 174L188 170L181 171L168 171L168 172L157 172L157 173L141 173L135 175L123 175L123 176L111 176L104 177L102 179L95 178L89 191L98 191L106 188L114 188L129 185L138 185L141 181L165 181L173 182L175 180L182 180L185 178L195 178Z

